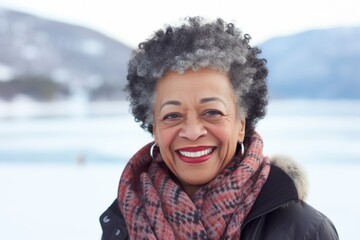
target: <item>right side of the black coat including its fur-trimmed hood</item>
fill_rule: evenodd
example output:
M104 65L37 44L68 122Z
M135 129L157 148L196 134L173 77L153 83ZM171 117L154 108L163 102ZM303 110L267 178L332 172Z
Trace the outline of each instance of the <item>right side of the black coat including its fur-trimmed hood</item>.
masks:
M301 166L289 158L274 158L242 239L338 239L333 223L305 202L306 195L307 179Z

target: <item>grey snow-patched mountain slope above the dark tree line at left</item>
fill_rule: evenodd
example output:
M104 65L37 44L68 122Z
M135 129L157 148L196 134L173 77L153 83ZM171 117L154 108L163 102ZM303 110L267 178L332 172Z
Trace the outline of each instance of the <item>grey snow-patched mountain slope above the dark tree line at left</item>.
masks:
M130 54L99 32L0 8L0 82L41 76L70 90L121 90Z

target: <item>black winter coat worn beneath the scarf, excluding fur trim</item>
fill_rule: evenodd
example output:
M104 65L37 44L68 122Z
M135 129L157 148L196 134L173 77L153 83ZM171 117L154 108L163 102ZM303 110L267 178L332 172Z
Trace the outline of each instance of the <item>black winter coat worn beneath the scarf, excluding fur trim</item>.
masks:
M101 215L102 240L129 239L115 200ZM240 229L239 229L240 231ZM293 180L271 166L269 177L241 229L241 240L335 240L332 222L299 200Z

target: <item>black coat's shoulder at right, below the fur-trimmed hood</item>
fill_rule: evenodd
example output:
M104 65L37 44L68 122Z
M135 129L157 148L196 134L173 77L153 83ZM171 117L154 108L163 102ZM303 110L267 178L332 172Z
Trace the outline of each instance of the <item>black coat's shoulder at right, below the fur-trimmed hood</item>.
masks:
M249 222L243 240L337 240L333 223L321 212L299 200Z

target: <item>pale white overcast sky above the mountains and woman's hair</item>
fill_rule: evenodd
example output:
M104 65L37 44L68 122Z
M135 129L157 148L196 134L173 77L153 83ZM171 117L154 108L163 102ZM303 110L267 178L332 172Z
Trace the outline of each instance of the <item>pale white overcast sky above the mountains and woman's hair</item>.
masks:
M360 26L359 0L0 0L0 7L89 27L130 46L194 15L235 22L253 43L308 29Z

